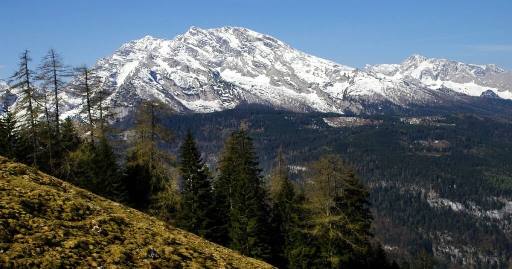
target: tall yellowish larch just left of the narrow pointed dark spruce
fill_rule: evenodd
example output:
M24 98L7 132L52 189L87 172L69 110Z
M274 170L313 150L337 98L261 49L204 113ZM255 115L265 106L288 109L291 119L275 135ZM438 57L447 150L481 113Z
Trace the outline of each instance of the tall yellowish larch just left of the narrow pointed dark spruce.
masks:
M171 112L157 101L143 102L135 111L132 147L126 162L131 203L164 221L174 221L180 201L178 174L173 168L176 158L166 150L173 143L174 133L162 123L162 117Z

